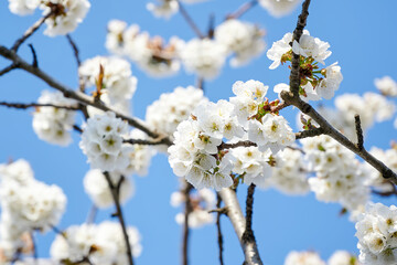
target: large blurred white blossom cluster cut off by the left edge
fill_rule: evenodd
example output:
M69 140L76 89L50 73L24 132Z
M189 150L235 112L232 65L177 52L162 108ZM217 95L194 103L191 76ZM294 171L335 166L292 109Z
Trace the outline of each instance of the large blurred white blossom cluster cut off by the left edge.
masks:
M11 261L17 251L25 247L30 233L44 232L60 222L66 197L57 186L35 180L23 159L0 165L0 179L1 259Z

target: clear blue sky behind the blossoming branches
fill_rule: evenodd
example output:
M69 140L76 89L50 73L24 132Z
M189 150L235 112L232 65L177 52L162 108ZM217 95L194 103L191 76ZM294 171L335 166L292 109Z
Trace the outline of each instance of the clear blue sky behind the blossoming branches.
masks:
M230 11L236 10L243 0L211 0L201 4L187 6L187 11L202 30L207 28L210 14L215 14L219 23ZM125 20L128 24L138 23L151 35L165 39L179 35L184 40L194 38L194 33L180 14L170 20L159 20L146 10L147 1L93 1L92 9L83 24L72 36L75 39L83 60L106 55L106 25L110 19ZM312 1L307 29L311 35L331 44L332 55L328 65L339 62L344 81L336 93L375 92L374 78L390 75L397 80L395 67L397 34L397 2L393 0L362 1L333 0ZM264 9L256 7L243 17L243 20L255 22L267 31L265 40L268 47L292 31L300 10L292 14L275 19ZM8 10L8 2L0 2L0 44L11 46L25 29L40 18L35 12L29 17L18 17ZM45 72L69 87L77 86L76 63L73 52L63 36L47 38L41 29L26 43L32 43L39 56L39 64ZM20 55L26 61L31 54L26 44L20 49ZM259 80L272 87L288 83L289 71L279 67L268 70L270 61L262 55L250 65L242 68L225 66L218 78L205 83L206 95L212 100L228 98L232 84L236 81ZM0 59L0 67L8 62ZM138 89L132 98L133 114L144 118L146 107L159 98L161 93L170 92L175 86L187 86L195 83L193 75L183 71L170 78L153 80L132 65L133 75L139 80ZM34 76L15 70L0 77L0 100L34 102L42 89L50 89L46 84ZM276 95L270 95L270 97ZM323 102L332 105L332 100ZM0 162L9 158L24 158L31 162L35 178L63 188L68 198L67 211L58 225L61 229L85 221L90 209L88 197L84 193L83 177L89 166L78 148L78 135L67 148L41 141L32 129L32 110L13 110L0 108L2 126L0 130ZM294 124L296 112L285 114ZM396 139L391 123L378 125L369 130L365 138L366 147L387 148ZM178 179L168 166L165 156L153 158L150 173L146 178L133 177L136 195L124 206L127 222L137 226L142 234L142 255L137 264L179 264L181 256L182 227L174 222L179 209L169 204L170 194L178 189ZM240 187L238 197L244 203L246 187ZM378 200L375 198L374 200ZM394 200L386 201L387 204ZM326 204L305 197L285 197L277 191L257 190L255 194L254 230L260 255L267 265L282 264L289 251L313 250L328 258L336 250L357 253L354 237L354 224L346 216L339 216L337 204ZM109 211L103 211L98 220L109 219ZM116 220L115 220L116 221ZM238 241L226 218L222 219L225 235L225 263L242 264L243 253ZM49 255L49 247L54 234L39 235L41 256ZM217 245L215 225L193 230L191 236L191 264L217 264Z

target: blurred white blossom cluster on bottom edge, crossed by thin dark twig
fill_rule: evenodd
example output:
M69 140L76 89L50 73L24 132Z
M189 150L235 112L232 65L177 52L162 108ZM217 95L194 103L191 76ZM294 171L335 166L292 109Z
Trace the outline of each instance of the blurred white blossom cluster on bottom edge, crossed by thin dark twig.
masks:
M127 233L135 257L142 252L141 236L133 226ZM62 264L128 264L126 243L119 223L105 221L99 224L72 225L56 235L51 256ZM89 261L84 262L84 261Z

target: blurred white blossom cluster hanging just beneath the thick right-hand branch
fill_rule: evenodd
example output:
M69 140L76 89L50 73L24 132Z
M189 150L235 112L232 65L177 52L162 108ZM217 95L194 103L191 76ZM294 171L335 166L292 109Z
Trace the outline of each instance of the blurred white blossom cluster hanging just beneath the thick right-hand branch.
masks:
M309 170L310 189L319 201L340 202L346 210L360 211L368 200L368 179L363 165L353 152L322 135L301 140Z

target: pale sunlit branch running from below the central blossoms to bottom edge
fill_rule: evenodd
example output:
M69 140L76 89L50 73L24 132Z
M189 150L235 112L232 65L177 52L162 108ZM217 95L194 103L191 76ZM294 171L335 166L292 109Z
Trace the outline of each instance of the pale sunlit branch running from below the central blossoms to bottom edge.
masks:
M256 242L245 242L243 240L243 234L246 230L246 221L238 203L236 193L232 189L226 188L219 191L219 195L225 203L225 206L227 208L227 216L229 218L242 245L246 264L262 265Z

